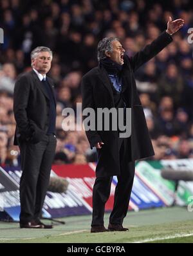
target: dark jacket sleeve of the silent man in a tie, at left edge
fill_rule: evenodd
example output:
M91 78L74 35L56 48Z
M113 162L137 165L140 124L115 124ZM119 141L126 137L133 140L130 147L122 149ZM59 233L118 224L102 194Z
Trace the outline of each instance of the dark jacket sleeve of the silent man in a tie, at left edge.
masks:
M30 138L32 131L28 120L26 109L30 96L30 83L26 76L17 79L14 88L14 116L19 128L19 133L23 138Z

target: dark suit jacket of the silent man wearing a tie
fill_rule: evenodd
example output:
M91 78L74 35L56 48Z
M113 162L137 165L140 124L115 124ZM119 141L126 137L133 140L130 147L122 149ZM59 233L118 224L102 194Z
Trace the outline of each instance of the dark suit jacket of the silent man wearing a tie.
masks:
M51 78L46 79L53 91ZM56 105L56 100L55 100ZM14 115L16 120L14 145L18 140L36 144L48 131L50 98L46 88L32 70L17 79L14 89Z

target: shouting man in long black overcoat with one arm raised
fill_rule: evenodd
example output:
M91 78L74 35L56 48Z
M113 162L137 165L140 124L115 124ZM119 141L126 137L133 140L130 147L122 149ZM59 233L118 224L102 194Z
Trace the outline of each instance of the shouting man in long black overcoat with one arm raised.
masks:
M94 109L97 123L98 109L124 109L124 122L131 109L131 136L120 138L120 130L86 130L92 147L96 147L98 162L93 187L93 220L91 232L127 231L122 226L127 214L134 179L134 161L154 155L151 139L145 122L143 107L138 97L134 72L153 58L171 41L171 35L183 26L184 21L169 18L167 30L150 45L132 58L124 55L124 48L116 37L104 38L98 43L98 67L91 69L82 78L82 109ZM86 121L83 114L84 121ZM116 122L116 121L115 121ZM112 128L112 127L111 127ZM118 178L113 211L108 229L104 227L104 209L111 190L113 175Z

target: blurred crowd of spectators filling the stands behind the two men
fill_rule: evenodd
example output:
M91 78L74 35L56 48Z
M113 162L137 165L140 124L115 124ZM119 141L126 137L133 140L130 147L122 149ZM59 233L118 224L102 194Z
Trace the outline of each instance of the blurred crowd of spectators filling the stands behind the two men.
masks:
M0 164L20 164L19 148L13 145L14 84L31 70L33 48L44 45L54 55L49 74L57 92L54 164L86 164L96 160L95 148L89 148L84 131L62 129L62 110L76 110L81 102L80 80L98 65L98 41L116 36L125 54L133 56L167 28L169 16L184 19L185 26L136 72L136 83L156 153L152 159L192 158L193 44L187 39L192 14L190 0L1 0Z

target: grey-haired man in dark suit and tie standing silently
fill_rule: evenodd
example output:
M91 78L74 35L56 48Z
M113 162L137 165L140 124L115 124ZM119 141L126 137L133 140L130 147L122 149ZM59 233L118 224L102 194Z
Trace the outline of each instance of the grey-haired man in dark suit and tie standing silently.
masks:
M53 81L46 74L52 52L37 47L31 53L32 71L21 75L14 90L17 123L14 144L21 151L20 227L52 228L40 220L55 155L56 101Z

